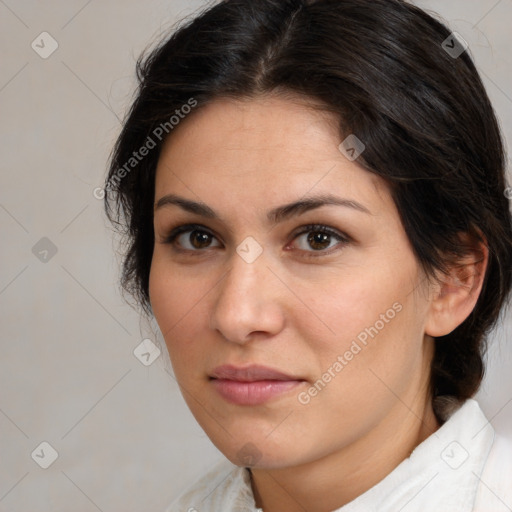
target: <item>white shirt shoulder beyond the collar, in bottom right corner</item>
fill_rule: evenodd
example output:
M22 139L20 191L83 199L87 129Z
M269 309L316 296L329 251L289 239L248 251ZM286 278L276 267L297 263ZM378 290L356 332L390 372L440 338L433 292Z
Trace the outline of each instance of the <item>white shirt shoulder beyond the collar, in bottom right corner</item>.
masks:
M495 433L480 475L474 512L512 510L512 437Z

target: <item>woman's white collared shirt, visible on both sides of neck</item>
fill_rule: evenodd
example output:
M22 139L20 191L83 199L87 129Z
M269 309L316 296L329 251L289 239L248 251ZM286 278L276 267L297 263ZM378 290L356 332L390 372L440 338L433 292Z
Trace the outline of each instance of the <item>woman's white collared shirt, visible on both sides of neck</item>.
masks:
M469 399L371 489L333 512L512 512L512 439ZM225 460L166 512L258 512L247 468ZM284 512L284 511L283 511Z

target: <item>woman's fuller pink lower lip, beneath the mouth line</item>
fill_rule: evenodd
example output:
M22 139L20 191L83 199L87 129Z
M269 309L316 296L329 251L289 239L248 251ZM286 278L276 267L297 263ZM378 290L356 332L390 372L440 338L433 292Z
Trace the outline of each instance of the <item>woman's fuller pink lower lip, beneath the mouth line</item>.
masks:
M213 379L211 383L228 402L237 405L258 405L297 387L299 380L237 380Z

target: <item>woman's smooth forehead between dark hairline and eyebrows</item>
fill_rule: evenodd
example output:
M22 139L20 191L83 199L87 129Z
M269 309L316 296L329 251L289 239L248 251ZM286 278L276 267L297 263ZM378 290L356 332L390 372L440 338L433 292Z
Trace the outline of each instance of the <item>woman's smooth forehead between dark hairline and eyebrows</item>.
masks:
M156 199L181 192L266 209L307 193L337 192L389 206L384 181L347 159L340 143L337 116L304 99L217 99L182 120L165 141Z

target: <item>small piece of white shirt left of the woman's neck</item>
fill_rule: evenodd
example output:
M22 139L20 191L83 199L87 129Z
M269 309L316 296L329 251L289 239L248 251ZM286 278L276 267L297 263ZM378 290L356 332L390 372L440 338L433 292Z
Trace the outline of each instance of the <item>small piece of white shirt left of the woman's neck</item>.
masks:
M234 510L252 497L245 473L245 468L221 460L174 500L165 512Z

